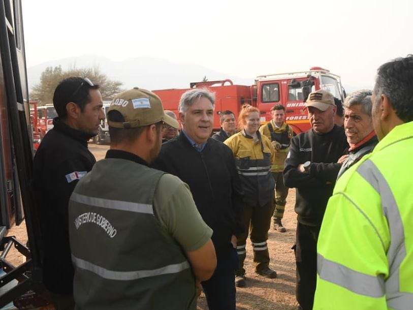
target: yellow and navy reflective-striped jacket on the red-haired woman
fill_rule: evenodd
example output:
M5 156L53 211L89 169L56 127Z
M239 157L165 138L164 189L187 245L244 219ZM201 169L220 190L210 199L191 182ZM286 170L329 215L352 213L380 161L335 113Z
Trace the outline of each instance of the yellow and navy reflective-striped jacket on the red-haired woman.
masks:
M235 156L235 164L241 178L244 201L253 206L263 206L273 199L275 182L271 176L274 149L270 140L257 132L258 140L241 131L227 140Z

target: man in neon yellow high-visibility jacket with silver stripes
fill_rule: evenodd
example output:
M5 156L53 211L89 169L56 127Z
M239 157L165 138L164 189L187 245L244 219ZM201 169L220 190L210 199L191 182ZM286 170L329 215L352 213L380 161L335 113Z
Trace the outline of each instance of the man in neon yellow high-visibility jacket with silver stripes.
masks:
M380 141L327 205L314 310L413 308L413 55L378 69L372 104Z

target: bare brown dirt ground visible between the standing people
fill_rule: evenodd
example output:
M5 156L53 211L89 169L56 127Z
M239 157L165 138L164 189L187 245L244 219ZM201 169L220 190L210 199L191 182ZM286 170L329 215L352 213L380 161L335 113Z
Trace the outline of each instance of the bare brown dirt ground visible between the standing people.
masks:
M105 157L108 146L89 144L97 160ZM290 190L285 206L284 219L282 221L287 229L286 233L278 233L271 227L268 233L268 249L270 252L270 267L278 273L276 279L267 279L257 276L253 272L252 247L247 241L247 257L245 269L247 271L247 287L237 288L238 310L290 310L296 309L298 304L295 299L295 261L294 252L291 250L295 239L295 227L297 224L294 212L295 191ZM20 241L26 242L26 226L23 222L20 226L9 230L8 235L15 235ZM7 259L15 265L23 262L23 257L15 249L9 253ZM198 300L198 310L207 310L205 295L201 294Z

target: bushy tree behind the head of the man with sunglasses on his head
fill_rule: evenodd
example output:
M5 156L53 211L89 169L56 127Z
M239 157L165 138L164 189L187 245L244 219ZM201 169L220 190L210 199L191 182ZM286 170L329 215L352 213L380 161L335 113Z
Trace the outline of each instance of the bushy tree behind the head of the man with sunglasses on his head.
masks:
M58 83L71 76L80 76L89 78L94 84L100 85L102 98L105 100L112 99L118 92L122 91L122 83L109 79L101 73L99 68L69 68L63 71L61 66L47 67L42 72L39 84L31 88L30 100L37 100L39 105L45 105L53 102L54 89Z

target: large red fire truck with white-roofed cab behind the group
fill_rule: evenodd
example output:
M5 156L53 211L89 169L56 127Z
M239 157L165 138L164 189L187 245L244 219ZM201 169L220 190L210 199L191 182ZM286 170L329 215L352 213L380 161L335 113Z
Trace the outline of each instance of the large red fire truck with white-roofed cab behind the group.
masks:
M270 109L274 104L285 107L285 119L296 134L307 131L310 124L303 110L304 102L311 91L326 89L343 102L345 91L338 75L321 67L312 67L308 71L277 73L258 76L251 86L234 85L231 80L194 82L186 89L153 90L158 95L164 109L178 114L181 95L188 89L207 87L215 92L214 130L219 130L219 113L231 110L238 117L244 103L260 109L263 123L271 119Z

